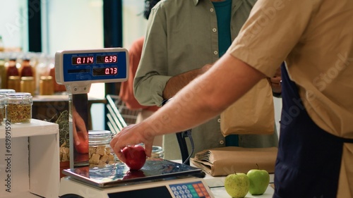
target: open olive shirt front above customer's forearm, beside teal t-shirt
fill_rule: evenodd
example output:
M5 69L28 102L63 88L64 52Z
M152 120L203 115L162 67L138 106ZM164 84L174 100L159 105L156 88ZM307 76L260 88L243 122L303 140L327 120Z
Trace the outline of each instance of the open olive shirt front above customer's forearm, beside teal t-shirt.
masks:
M249 17L256 1L232 1L230 30L232 40ZM219 58L217 16L211 1L173 1L160 4L165 17L168 71L177 75L214 63Z

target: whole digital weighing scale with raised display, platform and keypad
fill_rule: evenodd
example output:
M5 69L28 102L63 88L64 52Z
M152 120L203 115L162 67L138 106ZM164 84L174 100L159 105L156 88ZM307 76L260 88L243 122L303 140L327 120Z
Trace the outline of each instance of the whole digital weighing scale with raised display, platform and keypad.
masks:
M128 51L122 48L59 51L55 54L55 72L56 82L66 85L69 104L73 105L70 111L84 109L74 106L73 100L78 96L78 103L85 104L92 83L128 79ZM82 161L76 164L73 118L69 117L70 159L75 160L63 171L67 177L61 178L59 197L213 197L202 179L205 173L201 169L173 161L147 159L139 171L130 171L121 162L103 168L83 166Z

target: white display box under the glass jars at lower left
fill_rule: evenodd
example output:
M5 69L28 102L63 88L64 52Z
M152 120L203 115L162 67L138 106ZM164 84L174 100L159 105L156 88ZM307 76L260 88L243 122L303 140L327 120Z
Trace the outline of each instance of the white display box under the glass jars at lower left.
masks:
M4 121L0 126L0 197L59 197L59 125L32 119L11 124L11 138L6 131ZM6 186L8 178L11 186ZM11 192L6 191L8 187Z

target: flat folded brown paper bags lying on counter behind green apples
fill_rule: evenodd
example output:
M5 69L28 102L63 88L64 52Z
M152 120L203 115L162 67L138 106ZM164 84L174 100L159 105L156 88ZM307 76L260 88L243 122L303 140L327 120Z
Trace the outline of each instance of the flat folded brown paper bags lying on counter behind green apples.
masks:
M257 168L274 173L277 151L276 147L221 147L198 152L191 163L212 176L248 173Z

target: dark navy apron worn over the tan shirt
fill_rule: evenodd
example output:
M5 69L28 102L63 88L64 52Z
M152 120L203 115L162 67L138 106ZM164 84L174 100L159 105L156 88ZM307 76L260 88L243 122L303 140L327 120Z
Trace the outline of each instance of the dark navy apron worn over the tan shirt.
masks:
M282 116L274 198L336 197L344 139L309 117L297 85L282 66Z

